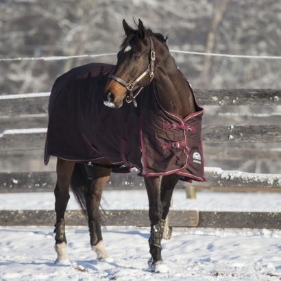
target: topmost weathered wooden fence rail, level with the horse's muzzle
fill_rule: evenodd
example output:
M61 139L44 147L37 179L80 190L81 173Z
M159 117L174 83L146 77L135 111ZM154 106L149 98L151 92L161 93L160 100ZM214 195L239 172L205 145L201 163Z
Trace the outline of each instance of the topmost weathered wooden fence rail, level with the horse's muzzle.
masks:
M281 104L280 89L195 89L194 92L202 106L277 106ZM47 93L45 97L40 97L40 95L36 97L36 94L5 96L0 99L0 115L46 113L48 103Z

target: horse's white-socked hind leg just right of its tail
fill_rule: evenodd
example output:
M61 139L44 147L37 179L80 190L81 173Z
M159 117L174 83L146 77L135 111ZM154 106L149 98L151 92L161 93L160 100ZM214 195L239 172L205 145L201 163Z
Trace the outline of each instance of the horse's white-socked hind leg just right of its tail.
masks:
M107 262L112 262L113 260L110 258L103 245L99 204L101 202L103 188L110 178L110 173L111 169L109 168L94 166L93 180L91 180L90 185L87 186L84 192L88 214L90 245L97 254L97 260L105 260Z

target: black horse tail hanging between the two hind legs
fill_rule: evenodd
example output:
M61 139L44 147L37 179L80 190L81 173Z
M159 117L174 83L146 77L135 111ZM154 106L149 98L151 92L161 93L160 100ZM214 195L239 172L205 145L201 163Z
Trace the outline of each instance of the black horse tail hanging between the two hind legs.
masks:
M71 178L71 189L74 193L75 199L80 204L86 219L88 219L88 214L84 194L88 187L90 187L90 184L91 181L88 179L88 174L84 163L75 163Z

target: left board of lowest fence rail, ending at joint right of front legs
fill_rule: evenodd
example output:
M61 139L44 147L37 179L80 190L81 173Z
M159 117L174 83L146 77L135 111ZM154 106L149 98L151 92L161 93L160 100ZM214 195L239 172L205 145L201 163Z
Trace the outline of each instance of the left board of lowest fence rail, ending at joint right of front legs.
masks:
M195 227L197 210L171 210L171 227ZM150 226L148 210L104 210L105 225ZM88 225L82 210L66 210L67 225ZM53 225L54 210L0 210L0 225Z

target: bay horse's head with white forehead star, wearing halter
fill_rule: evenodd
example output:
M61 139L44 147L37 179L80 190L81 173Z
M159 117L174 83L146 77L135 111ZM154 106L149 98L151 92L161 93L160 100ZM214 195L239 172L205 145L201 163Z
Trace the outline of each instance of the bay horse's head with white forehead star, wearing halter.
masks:
M135 91L141 90L154 78L153 41L140 19L136 27L133 29L123 20L126 37L104 93L104 104L110 108L121 108L124 99L128 103L133 101L136 106Z

